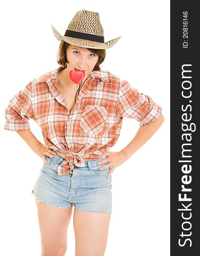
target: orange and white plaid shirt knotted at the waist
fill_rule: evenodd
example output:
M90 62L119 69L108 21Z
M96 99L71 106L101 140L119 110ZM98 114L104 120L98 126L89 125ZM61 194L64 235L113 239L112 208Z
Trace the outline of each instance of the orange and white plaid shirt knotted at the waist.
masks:
M26 130L30 117L34 119L46 148L67 157L58 166L58 175L69 173L74 166L84 167L84 160L106 158L102 155L117 142L123 117L145 126L160 116L162 108L151 97L106 70L89 74L70 114L57 87L60 70L33 79L17 93L5 110L4 126L10 131Z

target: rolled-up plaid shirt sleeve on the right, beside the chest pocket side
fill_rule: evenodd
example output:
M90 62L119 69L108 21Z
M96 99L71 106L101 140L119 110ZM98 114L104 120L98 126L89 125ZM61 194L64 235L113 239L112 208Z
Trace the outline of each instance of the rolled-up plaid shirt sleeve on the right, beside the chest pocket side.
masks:
M116 116L134 118L140 126L145 126L156 122L161 113L161 106L151 97L139 93L129 82L123 81L117 100Z

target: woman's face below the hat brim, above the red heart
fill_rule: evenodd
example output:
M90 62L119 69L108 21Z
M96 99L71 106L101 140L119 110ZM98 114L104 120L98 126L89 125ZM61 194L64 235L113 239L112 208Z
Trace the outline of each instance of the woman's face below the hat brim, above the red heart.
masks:
M94 69L99 56L84 47L69 44L66 49L67 68L69 72L74 69L84 70L85 77Z

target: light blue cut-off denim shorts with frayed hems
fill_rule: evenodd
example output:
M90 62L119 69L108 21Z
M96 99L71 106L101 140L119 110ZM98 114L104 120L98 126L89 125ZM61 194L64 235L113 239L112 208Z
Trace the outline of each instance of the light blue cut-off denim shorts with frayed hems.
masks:
M54 207L74 205L84 212L112 213L112 177L107 179L111 168L99 171L108 163L97 165L102 159L85 160L84 167L75 166L70 173L58 175L58 166L65 159L59 154L46 156L48 163L43 163L32 194L38 201Z

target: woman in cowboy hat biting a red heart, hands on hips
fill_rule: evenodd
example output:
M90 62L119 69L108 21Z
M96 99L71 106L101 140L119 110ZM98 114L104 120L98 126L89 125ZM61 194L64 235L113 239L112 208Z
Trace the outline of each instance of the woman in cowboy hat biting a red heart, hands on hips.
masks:
M38 211L41 256L65 255L74 205L76 256L104 255L111 217L111 174L163 123L162 108L129 82L101 70L106 50L120 37L104 43L98 12L81 10L61 41L60 67L33 79L6 108L5 129L17 131L43 159L32 191ZM123 117L140 128L119 152ZM41 127L44 145L30 130L32 118Z

